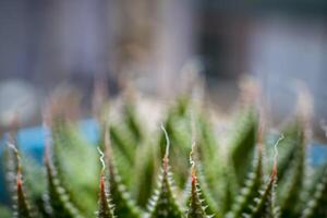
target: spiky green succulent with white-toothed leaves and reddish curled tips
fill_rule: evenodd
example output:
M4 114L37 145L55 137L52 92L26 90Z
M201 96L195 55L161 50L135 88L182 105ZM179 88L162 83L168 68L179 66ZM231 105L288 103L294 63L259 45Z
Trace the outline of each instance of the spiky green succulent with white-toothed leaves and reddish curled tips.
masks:
M223 134L187 98L178 99L167 111L164 131L147 130L146 119L131 102L125 102L119 120L109 124L101 119L99 155L76 124L56 118L44 168L9 147L4 157L12 214L19 218L327 217L327 168L310 167L307 128L300 116L280 130L279 145L278 136L259 126L252 106L242 107ZM11 216L4 207L0 213Z

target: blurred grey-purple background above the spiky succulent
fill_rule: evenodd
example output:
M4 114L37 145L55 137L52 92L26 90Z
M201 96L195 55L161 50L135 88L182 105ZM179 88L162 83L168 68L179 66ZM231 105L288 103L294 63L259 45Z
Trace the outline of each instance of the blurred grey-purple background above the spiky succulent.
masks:
M276 123L292 113L302 81L324 138L326 0L2 0L0 48L0 132L15 113L23 126L40 123L58 88L77 89L89 114L95 81L113 96L130 81L168 97L197 71L223 114L239 81L256 77Z

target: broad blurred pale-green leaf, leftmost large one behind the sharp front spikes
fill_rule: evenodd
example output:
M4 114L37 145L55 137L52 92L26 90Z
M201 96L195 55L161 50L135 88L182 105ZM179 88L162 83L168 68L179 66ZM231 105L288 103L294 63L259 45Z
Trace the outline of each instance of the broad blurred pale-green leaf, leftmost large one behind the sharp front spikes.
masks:
M94 216L97 209L96 178L99 173L97 152L77 126L66 121L55 123L52 140L53 166L62 185L71 193L71 202L82 214Z

